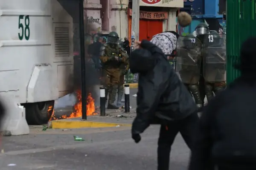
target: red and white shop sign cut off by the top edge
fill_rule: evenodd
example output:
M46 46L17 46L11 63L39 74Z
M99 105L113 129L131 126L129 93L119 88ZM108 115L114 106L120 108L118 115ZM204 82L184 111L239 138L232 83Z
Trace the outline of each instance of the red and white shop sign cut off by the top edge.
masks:
M140 6L161 6L183 8L184 0L140 0Z

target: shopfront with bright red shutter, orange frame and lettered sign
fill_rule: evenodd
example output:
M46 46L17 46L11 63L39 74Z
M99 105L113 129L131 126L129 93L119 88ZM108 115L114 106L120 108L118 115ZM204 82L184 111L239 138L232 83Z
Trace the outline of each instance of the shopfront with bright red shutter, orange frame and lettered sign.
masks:
M132 2L129 2L128 36L131 37ZM151 40L163 31L176 31L178 8L183 0L140 0L140 40Z

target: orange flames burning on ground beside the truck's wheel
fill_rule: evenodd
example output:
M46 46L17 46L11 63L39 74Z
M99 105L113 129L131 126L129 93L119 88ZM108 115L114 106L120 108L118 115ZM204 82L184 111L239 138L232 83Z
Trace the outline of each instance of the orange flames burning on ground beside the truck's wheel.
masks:
M81 91L76 92L77 98L78 98L78 103L74 106L75 112L71 113L69 116L68 115L62 115L61 117L56 117L54 114L54 110L52 106L49 107L48 112L52 111L52 116L49 119L51 120L58 120L58 119L69 119L69 118L75 118L75 117L81 117L82 116L82 101L81 101ZM95 112L95 105L94 105L94 99L92 97L92 94L89 93L87 96L87 105L86 105L86 115L87 116L93 116L97 115L98 113Z

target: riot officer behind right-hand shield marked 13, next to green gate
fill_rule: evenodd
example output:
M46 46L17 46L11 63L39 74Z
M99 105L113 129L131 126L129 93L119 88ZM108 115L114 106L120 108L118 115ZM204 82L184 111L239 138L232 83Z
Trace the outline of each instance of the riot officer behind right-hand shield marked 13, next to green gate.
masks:
M226 88L226 35L212 32L204 37L204 80L207 100Z

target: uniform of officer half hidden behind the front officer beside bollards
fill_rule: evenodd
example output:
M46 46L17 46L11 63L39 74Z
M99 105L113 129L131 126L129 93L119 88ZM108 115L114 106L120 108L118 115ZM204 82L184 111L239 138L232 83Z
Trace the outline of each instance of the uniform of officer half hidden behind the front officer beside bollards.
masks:
M119 79L119 84L117 88L117 102L116 105L122 105L121 100L122 100L122 95L124 92L124 83L125 83L125 75L128 73L129 70L129 56L127 52L125 51L124 48L122 48L123 42L119 40L119 48L121 53L119 54L120 57L124 59L125 62L121 62L119 65L120 69L120 79Z

